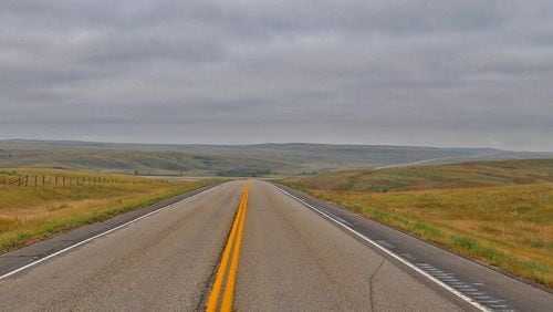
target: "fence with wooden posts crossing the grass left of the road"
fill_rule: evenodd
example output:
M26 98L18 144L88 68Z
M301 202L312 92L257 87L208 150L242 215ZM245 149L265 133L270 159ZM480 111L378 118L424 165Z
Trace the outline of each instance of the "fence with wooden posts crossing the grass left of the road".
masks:
M100 185L154 185L175 183L174 179L137 179L94 176L60 175L0 175L0 185L15 187L39 186L100 186Z

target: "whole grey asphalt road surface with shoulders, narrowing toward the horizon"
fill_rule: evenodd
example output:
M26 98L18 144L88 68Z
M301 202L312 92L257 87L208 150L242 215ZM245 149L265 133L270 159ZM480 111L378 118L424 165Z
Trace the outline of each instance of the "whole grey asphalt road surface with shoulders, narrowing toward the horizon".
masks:
M397 257L393 248L367 242L286 190L252 181L244 195L246 185L227 183L159 210L135 211L100 228L83 228L1 256L0 310L204 311L218 275L225 280L221 295L233 287L230 306L236 311L547 311L543 308L553 306L552 294L502 274L517 292L478 302L468 292L436 281L431 269L414 268L401 260L406 254ZM127 223L139 214L148 215ZM115 230L103 235L109 228ZM83 236L92 239L73 248ZM417 242L418 249L435 248ZM467 261L448 254L452 257L448 263L457 258L461 264ZM221 273L223 262L228 269ZM499 274L467 262L478 266L479 274ZM510 301L526 294L540 302L521 306ZM216 309L225 308L222 301L217 297Z

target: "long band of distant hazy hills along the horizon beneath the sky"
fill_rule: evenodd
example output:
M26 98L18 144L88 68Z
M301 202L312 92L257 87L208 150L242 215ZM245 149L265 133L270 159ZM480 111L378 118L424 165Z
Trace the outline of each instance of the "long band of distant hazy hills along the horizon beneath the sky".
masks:
M139 175L274 176L343 169L547 157L492 148L386 145L170 145L58 141L0 141L0 167L59 167Z

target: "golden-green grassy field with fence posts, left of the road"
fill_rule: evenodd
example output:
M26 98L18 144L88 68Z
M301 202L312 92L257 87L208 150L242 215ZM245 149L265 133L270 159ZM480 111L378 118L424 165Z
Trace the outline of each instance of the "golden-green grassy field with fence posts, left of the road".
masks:
M27 187L0 184L0 252L216 183L209 179L171 181L83 170L0 170L0 179L14 180L19 176L31 177ZM38 186L34 186L34 176L40 177ZM44 185L41 184L42 177ZM55 177L58 184L54 184ZM65 177L65 184L61 184L62 177Z

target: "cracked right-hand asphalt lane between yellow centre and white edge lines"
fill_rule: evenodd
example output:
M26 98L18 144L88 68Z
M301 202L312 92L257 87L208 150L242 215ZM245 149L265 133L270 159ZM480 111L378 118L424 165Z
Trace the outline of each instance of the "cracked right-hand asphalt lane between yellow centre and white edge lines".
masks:
M251 187L234 308L467 309L263 181Z

